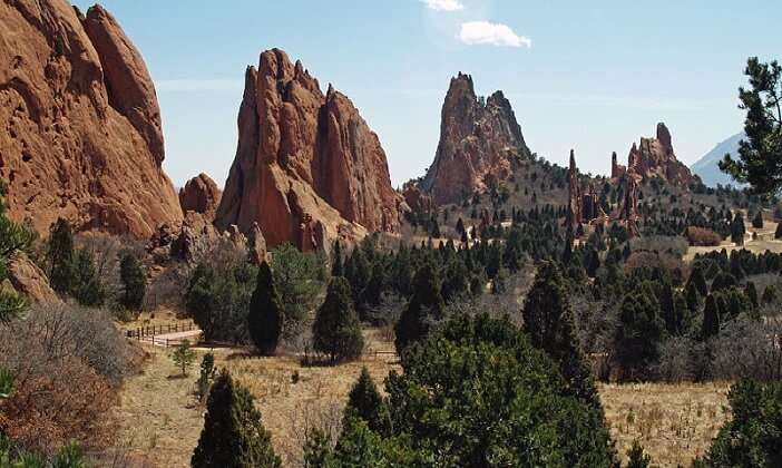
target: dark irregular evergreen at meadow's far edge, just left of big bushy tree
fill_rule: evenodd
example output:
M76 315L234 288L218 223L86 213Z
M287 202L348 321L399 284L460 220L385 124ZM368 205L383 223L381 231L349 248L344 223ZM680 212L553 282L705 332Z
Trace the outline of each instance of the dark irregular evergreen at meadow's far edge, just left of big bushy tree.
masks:
M397 351L401 354L408 344L422 339L429 331L428 316L439 319L443 309L440 279L434 266L427 262L416 272L413 295L394 328Z

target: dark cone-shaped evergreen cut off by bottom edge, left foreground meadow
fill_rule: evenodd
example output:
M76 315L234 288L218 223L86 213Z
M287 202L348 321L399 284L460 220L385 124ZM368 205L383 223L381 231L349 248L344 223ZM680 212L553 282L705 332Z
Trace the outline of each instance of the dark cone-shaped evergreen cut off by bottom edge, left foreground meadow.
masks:
M223 370L206 402L204 429L193 458L193 468L277 468L272 438L247 389L234 383Z

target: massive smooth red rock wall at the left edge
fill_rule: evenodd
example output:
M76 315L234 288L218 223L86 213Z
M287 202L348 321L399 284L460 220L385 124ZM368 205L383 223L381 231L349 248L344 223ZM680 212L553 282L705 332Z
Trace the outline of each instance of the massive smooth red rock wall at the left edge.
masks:
M149 74L100 7L0 2L0 177L14 220L147 237L182 220Z

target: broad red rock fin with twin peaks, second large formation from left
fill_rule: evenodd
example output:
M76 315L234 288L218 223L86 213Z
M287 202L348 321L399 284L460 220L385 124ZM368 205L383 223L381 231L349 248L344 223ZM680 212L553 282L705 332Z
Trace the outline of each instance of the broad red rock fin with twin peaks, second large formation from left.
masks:
M326 238L395 232L401 197L385 153L358 109L278 49L247 68L236 157L215 224L248 233L257 223L270 246L324 246Z

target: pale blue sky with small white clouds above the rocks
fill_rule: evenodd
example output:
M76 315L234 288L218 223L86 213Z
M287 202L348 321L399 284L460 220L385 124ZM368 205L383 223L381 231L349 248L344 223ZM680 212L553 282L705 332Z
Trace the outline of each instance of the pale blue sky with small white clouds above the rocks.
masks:
M86 9L87 1L74 1ZM610 169L657 121L694 163L742 128L749 56L782 59L779 0L106 0L157 86L164 167L219 185L236 149L243 75L265 49L301 59L378 133L394 185L420 176L451 76L502 89L532 152Z

